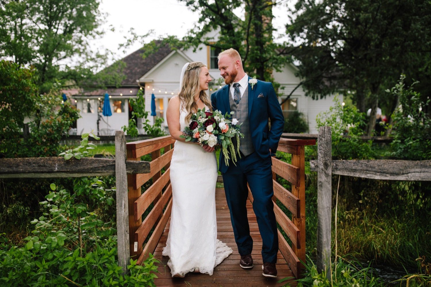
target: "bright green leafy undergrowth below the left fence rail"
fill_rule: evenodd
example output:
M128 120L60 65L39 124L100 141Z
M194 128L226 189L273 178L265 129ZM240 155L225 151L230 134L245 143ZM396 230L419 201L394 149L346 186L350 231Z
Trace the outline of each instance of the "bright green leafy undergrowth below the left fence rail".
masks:
M131 260L128 274L116 260L116 229L113 219L104 222L82 204L88 197L112 208L110 189L97 178L75 181L70 193L55 184L42 201L43 214L31 221L34 229L22 247L13 246L2 235L0 281L3 286L155 286L152 256L144 265Z

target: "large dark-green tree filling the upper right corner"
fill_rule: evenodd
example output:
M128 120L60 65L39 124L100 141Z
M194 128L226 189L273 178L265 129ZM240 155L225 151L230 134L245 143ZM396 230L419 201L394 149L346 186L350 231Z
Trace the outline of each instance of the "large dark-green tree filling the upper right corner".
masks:
M359 111L371 105L368 134L384 90L429 55L431 3L423 0L298 0L287 34L312 96L350 91Z

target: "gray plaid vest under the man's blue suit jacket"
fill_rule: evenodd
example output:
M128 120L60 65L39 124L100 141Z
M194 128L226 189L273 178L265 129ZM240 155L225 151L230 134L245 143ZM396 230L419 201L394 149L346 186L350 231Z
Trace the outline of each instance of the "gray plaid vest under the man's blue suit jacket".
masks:
M245 156L250 155L254 152L254 147L251 142L250 121L248 120L248 86L238 106L234 102L231 89L229 89L229 105L231 111L235 112L232 118L236 118L238 124L242 123L241 133L244 134L244 138L240 138L240 151ZM234 142L234 145L236 146L236 142Z

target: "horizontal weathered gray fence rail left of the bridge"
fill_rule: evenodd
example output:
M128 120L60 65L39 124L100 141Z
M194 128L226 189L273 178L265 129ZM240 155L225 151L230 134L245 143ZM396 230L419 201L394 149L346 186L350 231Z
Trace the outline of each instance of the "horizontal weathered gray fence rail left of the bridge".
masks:
M126 173L149 173L147 161L126 161ZM83 157L80 160L63 157L25 157L0 159L0 178L51 178L80 176L112 176L116 160Z

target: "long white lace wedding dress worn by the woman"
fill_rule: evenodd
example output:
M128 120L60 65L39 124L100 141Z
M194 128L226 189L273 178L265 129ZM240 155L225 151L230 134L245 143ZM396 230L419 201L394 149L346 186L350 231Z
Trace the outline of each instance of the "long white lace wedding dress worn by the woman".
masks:
M181 110L181 130L186 126L185 116ZM182 277L195 268L212 275L214 267L232 253L217 239L215 153L197 144L176 141L170 169L172 213L163 256L169 256L172 276Z

